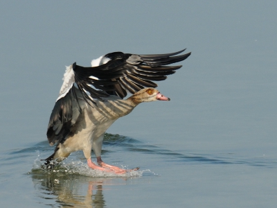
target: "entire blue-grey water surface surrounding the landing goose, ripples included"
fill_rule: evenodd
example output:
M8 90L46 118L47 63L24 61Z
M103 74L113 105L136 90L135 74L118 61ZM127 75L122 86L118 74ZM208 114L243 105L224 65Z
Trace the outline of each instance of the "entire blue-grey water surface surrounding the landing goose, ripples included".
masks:
M277 1L172 2L0 2L0 207L276 207ZM44 170L65 65L184 48L158 87L171 101L107 131L104 162L139 171L82 152Z

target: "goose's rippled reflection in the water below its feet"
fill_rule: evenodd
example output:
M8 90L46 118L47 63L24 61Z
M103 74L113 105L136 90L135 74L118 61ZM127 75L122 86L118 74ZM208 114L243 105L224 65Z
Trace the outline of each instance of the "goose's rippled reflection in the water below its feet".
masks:
M86 177L64 173L33 173L37 195L53 207L106 207L103 192L109 184L125 183L127 178ZM40 203L41 203L40 202ZM52 203L52 204L51 204Z

